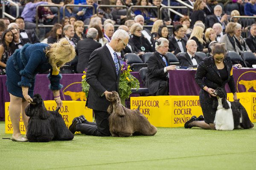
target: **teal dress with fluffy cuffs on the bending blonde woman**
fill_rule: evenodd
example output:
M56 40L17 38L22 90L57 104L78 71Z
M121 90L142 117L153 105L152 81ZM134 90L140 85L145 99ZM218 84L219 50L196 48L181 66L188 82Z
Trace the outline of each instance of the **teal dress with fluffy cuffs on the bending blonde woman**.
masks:
M28 87L30 97L34 94L35 76L38 73L44 73L50 70L48 78L50 80L49 88L60 90L63 86L60 84L61 74L52 75L52 66L45 55L48 44L36 43L26 44L21 49L17 49L8 59L6 64L7 90L13 96L24 98L22 86ZM55 72L53 72L55 74Z

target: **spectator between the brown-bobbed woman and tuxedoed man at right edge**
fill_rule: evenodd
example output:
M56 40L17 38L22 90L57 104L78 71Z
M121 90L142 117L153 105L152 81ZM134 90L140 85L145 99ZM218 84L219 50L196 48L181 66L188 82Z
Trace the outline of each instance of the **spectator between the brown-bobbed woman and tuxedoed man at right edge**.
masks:
M250 48L248 47L244 38L241 36L241 33L242 33L242 26L241 26L241 24L236 23L234 37L236 40L236 46L238 47L238 50L239 50L239 54L242 54L243 51L250 51Z

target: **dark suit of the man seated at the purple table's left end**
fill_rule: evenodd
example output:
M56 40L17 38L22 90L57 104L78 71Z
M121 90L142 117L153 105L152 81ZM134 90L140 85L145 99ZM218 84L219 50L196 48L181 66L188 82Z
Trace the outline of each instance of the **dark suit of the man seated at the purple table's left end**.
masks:
M167 57L166 61L168 61ZM155 51L148 59L148 71L146 74L145 87L148 88L149 94L154 94L159 88L160 81L166 81L168 72L164 73L166 63L160 54Z

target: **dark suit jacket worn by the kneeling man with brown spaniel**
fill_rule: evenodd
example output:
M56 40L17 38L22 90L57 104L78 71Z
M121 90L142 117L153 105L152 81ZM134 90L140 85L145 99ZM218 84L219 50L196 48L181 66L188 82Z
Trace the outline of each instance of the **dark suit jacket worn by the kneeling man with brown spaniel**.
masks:
M116 75L115 63L108 47L104 45L94 50L90 55L86 74L86 81L90 85L87 99L88 108L106 112L110 102L102 94L105 91L118 92L119 79L120 69L118 75Z

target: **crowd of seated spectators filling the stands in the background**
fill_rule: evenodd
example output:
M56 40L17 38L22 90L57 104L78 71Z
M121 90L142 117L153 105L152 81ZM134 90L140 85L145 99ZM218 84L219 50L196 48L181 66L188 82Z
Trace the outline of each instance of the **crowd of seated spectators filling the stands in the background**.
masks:
M230 11L230 14L227 14L223 4L218 3L217 0L184 0L194 9L189 9L189 13L188 9L177 9L177 12L184 15L180 17L163 8L161 20L158 18L157 8L161 8L161 3L167 5L167 0L14 0L14 2L24 8L20 16L13 21L8 18L0 19L0 74L5 74L6 62L15 49L22 48L28 42L54 43L62 37L66 37L76 48L76 58L67 65L73 66L75 73L82 73L93 50L110 42L116 29L124 29L131 36L125 49L118 54L120 57L126 53L135 53L141 57L146 52L154 52L155 42L160 37L164 37L169 40L169 52L175 55L186 52L187 41L194 40L196 51L209 53L208 47L211 42L221 42L225 43L227 51L235 51L239 55L244 51L250 51L256 58L256 20L253 19L253 22L248 24L241 22L240 18L233 17L256 16L256 0L233 0L232 3L239 8ZM183 6L175 0L170 0L170 3L171 6ZM40 4L60 6L61 21L58 23L58 8L39 6L39 23L54 26L46 27L43 31L40 28L36 34L36 7ZM95 11L91 7L73 6L68 6L63 11L63 6L67 4L91 5ZM127 9L124 7L102 7L96 13L98 5L157 6L157 8L132 8L131 14L127 15ZM11 3L6 3L6 10L10 14L16 12L13 7ZM84 27L84 25L88 26ZM119 26L115 27L115 25ZM255 64L253 61L247 63L248 66L253 64Z

